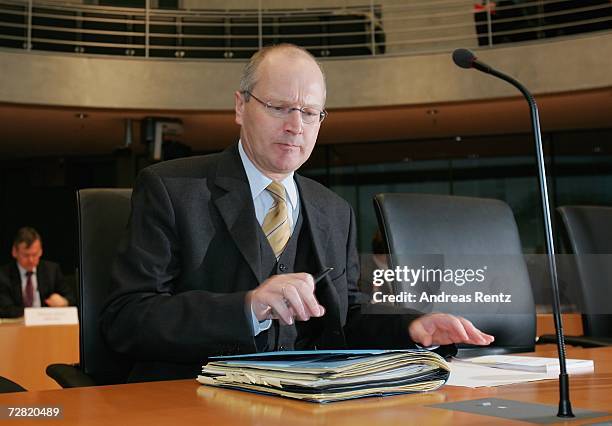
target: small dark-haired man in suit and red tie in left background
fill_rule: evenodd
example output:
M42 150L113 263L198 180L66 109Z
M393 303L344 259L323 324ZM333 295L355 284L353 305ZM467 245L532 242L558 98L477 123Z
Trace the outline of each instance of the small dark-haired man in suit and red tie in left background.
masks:
M24 307L75 304L59 265L42 260L42 253L42 240L34 228L17 231L12 249L15 262L0 269L0 317L23 316Z

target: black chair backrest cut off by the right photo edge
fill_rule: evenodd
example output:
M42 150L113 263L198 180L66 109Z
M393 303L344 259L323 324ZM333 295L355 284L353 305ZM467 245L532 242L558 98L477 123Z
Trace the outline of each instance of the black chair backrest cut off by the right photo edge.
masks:
M584 335L612 337L612 207L557 210L574 253Z

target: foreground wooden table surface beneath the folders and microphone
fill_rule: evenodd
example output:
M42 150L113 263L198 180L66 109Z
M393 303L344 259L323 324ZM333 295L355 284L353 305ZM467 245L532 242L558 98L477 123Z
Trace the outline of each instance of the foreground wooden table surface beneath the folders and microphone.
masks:
M553 350L552 347L544 347L538 355L552 355ZM568 352L574 358L595 360L594 373L573 375L571 378L574 408L610 411L610 416L597 420L612 420L612 348L571 348ZM556 380L479 389L444 386L436 392L424 394L319 405L199 386L195 380L181 380L3 394L0 395L0 405L60 405L64 410L64 419L44 420L44 424L62 425L524 425L522 422L427 406L495 397L556 407L557 391ZM572 421L570 424L593 421ZM18 420L6 422L11 425L27 424Z

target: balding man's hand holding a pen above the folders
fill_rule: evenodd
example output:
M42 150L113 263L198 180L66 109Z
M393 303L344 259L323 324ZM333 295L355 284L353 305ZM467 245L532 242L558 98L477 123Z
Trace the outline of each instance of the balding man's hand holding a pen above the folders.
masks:
M307 273L273 275L247 293L246 304L258 321L278 318L282 324L293 324L294 318L308 321L321 317L325 308L315 295L312 275Z

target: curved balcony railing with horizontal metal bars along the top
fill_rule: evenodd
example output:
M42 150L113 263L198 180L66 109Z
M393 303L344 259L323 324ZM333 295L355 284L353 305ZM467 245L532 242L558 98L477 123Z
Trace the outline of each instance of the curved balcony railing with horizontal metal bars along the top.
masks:
M263 45L290 42L318 57L350 57L494 46L612 29L612 0L474 3L364 0L357 6L228 11L0 0L0 47L240 60Z

